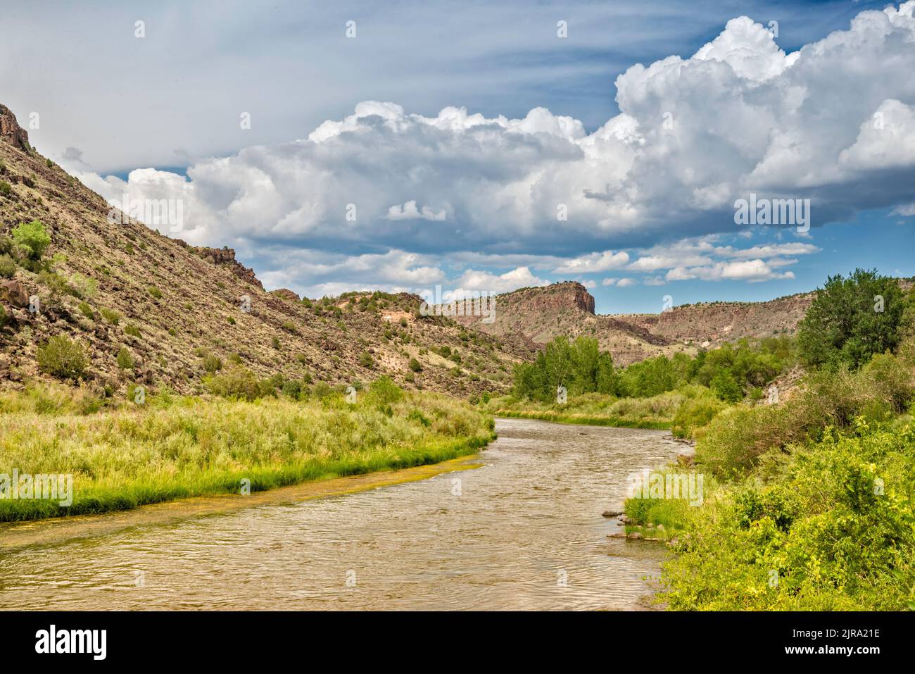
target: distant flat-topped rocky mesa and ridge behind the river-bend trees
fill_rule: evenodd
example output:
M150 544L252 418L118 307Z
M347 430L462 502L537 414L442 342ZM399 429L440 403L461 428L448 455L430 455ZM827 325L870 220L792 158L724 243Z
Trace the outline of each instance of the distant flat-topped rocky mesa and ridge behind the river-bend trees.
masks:
M597 337L613 361L625 365L661 353L695 353L742 337L768 337L795 331L811 294L768 302L712 302L684 305L661 314L594 313L587 288L567 281L545 288L523 288L495 299L495 320L460 317L464 325L498 337L521 334L536 344L559 335Z

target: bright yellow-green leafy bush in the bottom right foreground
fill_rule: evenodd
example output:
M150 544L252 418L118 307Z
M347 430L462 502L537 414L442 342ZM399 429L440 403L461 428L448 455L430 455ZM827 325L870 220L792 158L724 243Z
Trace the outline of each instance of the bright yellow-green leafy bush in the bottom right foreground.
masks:
M706 497L659 598L691 611L915 609L915 423L853 425L778 451L777 480L751 474Z

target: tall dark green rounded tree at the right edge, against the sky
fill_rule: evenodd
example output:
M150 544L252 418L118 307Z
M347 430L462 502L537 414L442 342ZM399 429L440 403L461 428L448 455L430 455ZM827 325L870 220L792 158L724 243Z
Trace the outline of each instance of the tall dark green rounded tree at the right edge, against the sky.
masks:
M877 270L828 277L798 326L798 353L812 367L857 369L896 348L904 310L899 283Z

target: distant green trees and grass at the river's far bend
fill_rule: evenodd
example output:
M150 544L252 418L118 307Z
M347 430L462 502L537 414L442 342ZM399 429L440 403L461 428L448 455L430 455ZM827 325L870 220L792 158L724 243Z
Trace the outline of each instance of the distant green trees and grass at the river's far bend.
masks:
M741 340L694 357L658 356L614 370L597 340L560 337L533 364L516 366L510 396L483 405L501 417L672 429L678 438L693 438L724 409L741 401L759 403L763 386L796 363L793 340L781 336ZM560 386L565 398L557 392Z

